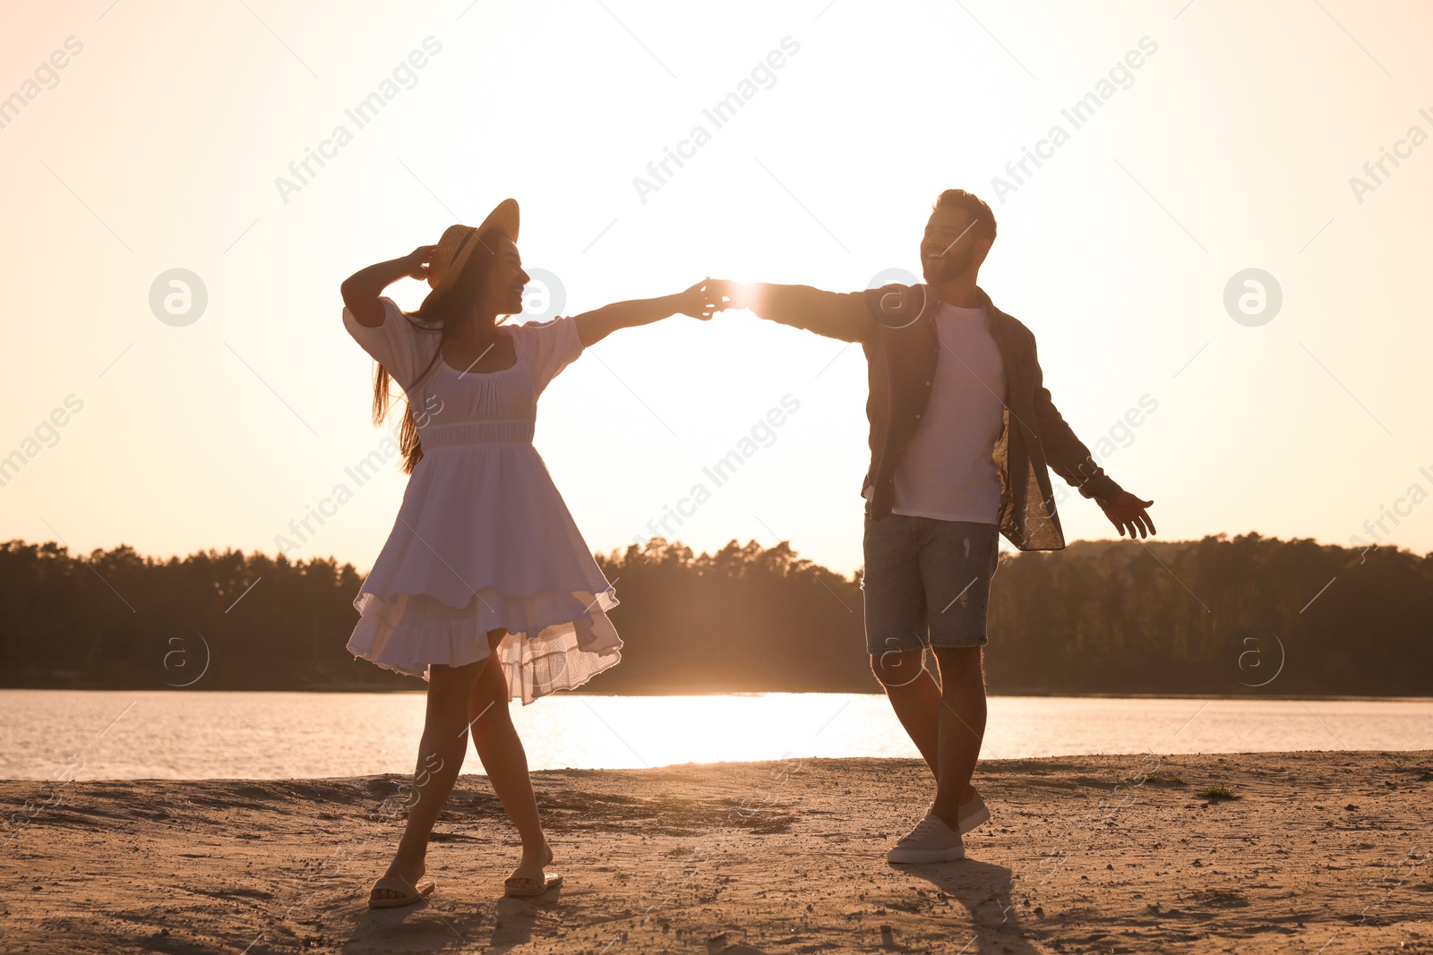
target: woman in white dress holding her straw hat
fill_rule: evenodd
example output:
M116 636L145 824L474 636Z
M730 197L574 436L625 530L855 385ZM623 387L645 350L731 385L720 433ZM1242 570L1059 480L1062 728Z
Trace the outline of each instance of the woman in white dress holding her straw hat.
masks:
M354 606L348 649L428 682L408 823L373 908L433 892L423 878L433 823L471 732L493 790L523 842L509 895L562 883L537 819L527 756L507 703L575 689L619 660L606 617L616 606L532 445L537 395L582 349L619 328L682 312L711 318L704 285L618 302L576 318L503 325L522 312L517 203L436 246L355 272L342 283L344 326L374 357L374 421L388 384L407 397L398 447L413 477L387 544ZM431 286L404 315L380 292L411 276Z

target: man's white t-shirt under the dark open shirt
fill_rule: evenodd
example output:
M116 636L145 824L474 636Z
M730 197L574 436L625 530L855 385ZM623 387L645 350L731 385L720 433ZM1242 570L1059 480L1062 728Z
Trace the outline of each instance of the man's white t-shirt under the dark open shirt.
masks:
M941 305L930 402L896 467L891 510L910 517L995 524L1005 427L1005 361L983 308Z

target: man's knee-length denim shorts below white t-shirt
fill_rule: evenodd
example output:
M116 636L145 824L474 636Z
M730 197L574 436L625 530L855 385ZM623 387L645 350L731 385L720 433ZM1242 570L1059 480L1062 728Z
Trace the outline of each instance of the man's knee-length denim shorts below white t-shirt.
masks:
M866 518L866 649L983 647L995 524L887 514Z

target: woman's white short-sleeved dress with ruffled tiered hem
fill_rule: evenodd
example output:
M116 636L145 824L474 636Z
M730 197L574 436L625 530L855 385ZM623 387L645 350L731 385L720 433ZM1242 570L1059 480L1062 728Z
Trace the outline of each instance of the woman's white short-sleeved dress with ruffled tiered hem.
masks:
M576 324L507 326L512 368L460 372L437 358L416 384L438 335L380 301L383 325L365 328L345 308L344 328L407 392L423 460L354 600L348 650L428 679L434 663L487 657L487 631L504 629L510 699L582 686L620 659L606 616L618 601L532 444L537 395L582 354Z

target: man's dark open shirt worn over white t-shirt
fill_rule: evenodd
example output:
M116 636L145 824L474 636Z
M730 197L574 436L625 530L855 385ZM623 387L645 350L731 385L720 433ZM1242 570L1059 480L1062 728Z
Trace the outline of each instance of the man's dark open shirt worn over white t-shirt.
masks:
M807 285L761 285L749 308L848 342L861 342L867 359L871 465L861 487L874 488L867 514L890 514L896 465L930 401L940 339L936 301L924 285L887 285L866 292L823 292ZM1035 335L976 289L990 315L990 331L1005 361L1005 428L992 454L1000 472L1000 533L1020 550L1062 550L1065 534L1055 513L1052 468L1101 507L1121 487L1095 462L1050 401L1035 357Z

